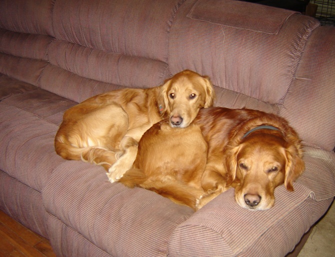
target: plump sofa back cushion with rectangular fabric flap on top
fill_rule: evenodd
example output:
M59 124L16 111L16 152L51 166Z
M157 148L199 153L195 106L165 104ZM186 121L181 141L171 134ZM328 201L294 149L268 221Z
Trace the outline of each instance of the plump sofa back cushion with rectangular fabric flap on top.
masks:
M169 68L172 73L196 70L216 86L280 104L306 38L318 25L317 20L269 6L189 0L171 26Z

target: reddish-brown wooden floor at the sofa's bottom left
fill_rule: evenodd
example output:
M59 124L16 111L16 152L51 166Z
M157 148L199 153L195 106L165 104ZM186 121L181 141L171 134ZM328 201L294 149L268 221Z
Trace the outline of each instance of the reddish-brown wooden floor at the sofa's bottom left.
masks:
M0 211L0 257L55 257L49 241Z

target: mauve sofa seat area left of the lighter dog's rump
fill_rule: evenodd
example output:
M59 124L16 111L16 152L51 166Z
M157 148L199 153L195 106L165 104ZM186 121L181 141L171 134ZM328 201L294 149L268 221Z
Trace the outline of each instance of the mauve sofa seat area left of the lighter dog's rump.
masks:
M14 94L0 102L0 169L40 192L64 160L53 141L64 110L74 102L42 90Z

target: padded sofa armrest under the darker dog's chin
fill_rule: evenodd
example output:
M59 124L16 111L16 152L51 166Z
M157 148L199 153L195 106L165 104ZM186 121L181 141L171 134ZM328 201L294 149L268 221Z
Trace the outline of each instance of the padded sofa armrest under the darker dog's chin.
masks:
M180 224L169 256L285 256L332 201L315 201L303 186L294 193L279 187L272 209L251 211L240 208L233 193L226 191Z

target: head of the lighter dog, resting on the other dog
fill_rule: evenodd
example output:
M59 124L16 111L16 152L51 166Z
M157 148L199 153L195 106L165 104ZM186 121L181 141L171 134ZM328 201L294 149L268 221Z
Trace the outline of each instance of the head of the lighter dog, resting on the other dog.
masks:
M207 76L183 70L165 81L161 90L162 113L169 117L171 127L187 127L200 108L212 106L213 86Z

